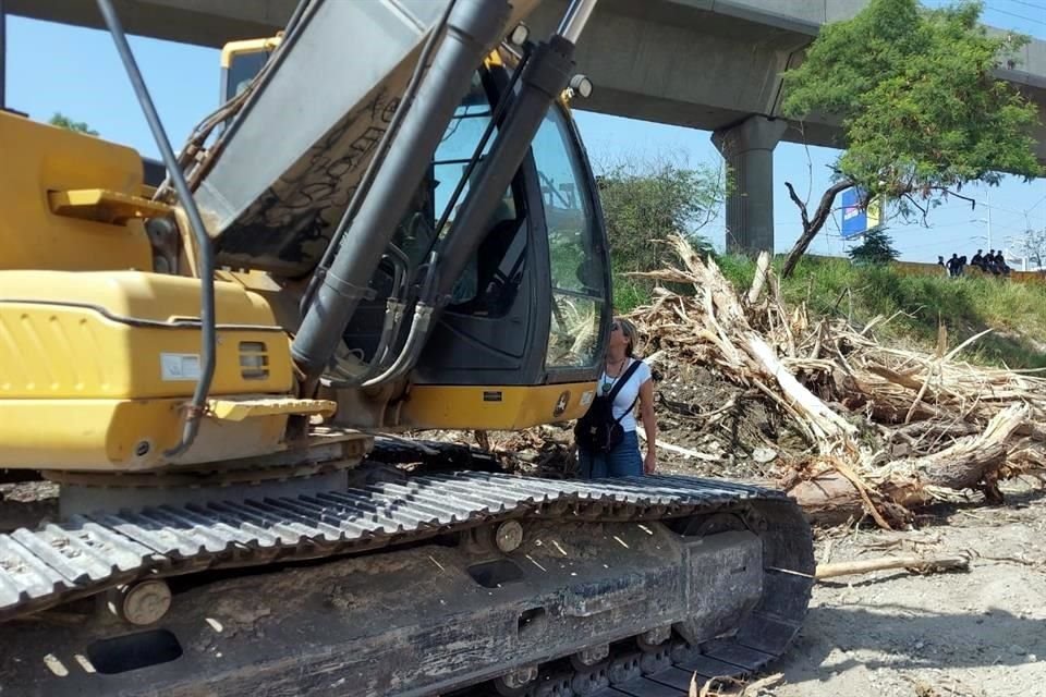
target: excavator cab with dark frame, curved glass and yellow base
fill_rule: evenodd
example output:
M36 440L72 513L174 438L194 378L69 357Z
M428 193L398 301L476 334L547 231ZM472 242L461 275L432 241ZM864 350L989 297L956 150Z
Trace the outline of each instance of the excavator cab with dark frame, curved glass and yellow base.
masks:
M397 234L413 265L424 264L431 250L434 225L448 212L508 70L492 65L477 72L447 129L416 197L418 207ZM610 321L606 232L592 181L572 121L561 106L554 107L422 353L401 412L405 424L507 428L498 419L510 418L515 428L584 412L592 393L586 398L591 388L582 383L596 377ZM453 215L448 212L447 227ZM377 314L384 304L370 307ZM374 340L366 327L377 317L357 316L348 345ZM535 389L526 391L528 386ZM447 402L447 394L455 399ZM458 400L465 403L452 403ZM491 420L469 420L476 418L475 405L485 404L486 412L506 400L514 403L513 416L491 412Z

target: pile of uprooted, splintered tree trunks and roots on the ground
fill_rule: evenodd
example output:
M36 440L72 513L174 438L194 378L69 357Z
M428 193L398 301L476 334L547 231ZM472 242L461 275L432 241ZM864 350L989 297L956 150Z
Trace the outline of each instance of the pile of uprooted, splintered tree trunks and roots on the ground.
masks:
M636 276L694 293L658 288L630 318L659 365L714 370L802 436L803 449L780 458L780 484L813 518L868 515L888 528L972 491L997 502L1000 479L1042 469L1046 378L963 362L983 333L948 348L941 328L932 354L886 345L874 333L886 318L858 328L787 307L768 256L739 294L713 259L671 243L677 268Z

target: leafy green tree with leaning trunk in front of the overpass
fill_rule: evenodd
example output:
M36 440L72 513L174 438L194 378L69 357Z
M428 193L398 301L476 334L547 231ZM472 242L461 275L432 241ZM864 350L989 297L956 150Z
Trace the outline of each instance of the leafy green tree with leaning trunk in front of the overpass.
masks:
M784 73L784 114L840 119L847 149L813 213L787 183L803 233L782 276L824 227L836 196L859 185L862 205L881 196L903 218L922 216L973 181L1000 172L1041 175L1031 136L1035 106L993 76L1026 37L988 36L981 4L926 10L917 0L872 0L826 25L798 69Z

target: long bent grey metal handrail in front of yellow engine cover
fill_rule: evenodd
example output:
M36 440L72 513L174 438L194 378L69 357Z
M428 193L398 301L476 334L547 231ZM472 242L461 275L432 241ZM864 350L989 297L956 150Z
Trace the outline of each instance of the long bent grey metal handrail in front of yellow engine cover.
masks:
M127 44L127 37L120 24L120 19L112 9L111 0L97 0L98 9L101 10L106 25L109 27L109 34L117 45L117 51L120 53L120 60L127 71L127 77L134 87L134 94L138 98L142 111L145 113L146 121L149 122L149 130L156 139L156 145L160 149L160 156L163 158L163 164L167 167L168 178L178 192L182 207L188 218L190 228L193 236L196 239L198 247L198 272L199 272L199 325L200 325L200 374L196 381L196 388L193 392L193 401L190 404L188 412L185 415L185 425L182 428L182 438L178 445L163 453L167 457L175 457L185 452L193 441L196 440L196 433L199 430L199 420L204 416L207 404L207 393L210 391L210 383L215 377L215 346L217 344L217 329L215 327L215 255L210 246L210 237L207 236L207 230L204 221L199 217L199 209L196 208L196 200L188 189L188 183L185 175L178 166L178 158L174 157L174 150L171 148L171 142L163 131L163 124L160 123L160 117L149 96L149 90L142 78L142 72L131 52L131 46Z

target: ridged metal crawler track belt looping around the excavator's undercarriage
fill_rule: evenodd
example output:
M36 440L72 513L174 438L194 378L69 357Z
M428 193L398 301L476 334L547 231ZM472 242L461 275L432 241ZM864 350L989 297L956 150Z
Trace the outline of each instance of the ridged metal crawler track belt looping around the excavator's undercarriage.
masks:
M665 644L653 651L617 640L604 668L595 672L579 672L576 667L564 672L562 657L550 657L540 664L536 683L512 693L684 695L695 672L711 677L757 671L780 656L799 632L813 585L811 534L798 506L780 492L676 476L570 481L460 472L342 493L76 515L38 530L0 536L0 621L46 617L41 611L141 579L192 578L222 568L264 571L306 560L409 549L426 539L510 519L608 529L624 524L647 529L644 523L665 523L700 546L702 536L730 529L720 527L720 517L740 521L744 535L757 536L762 557L761 594L737 626L700 645L680 644L677 634L674 647ZM688 522L703 523L700 529L690 529ZM613 539L628 547L620 537ZM346 694L451 693L441 686L438 693ZM461 694L492 693L473 688Z

